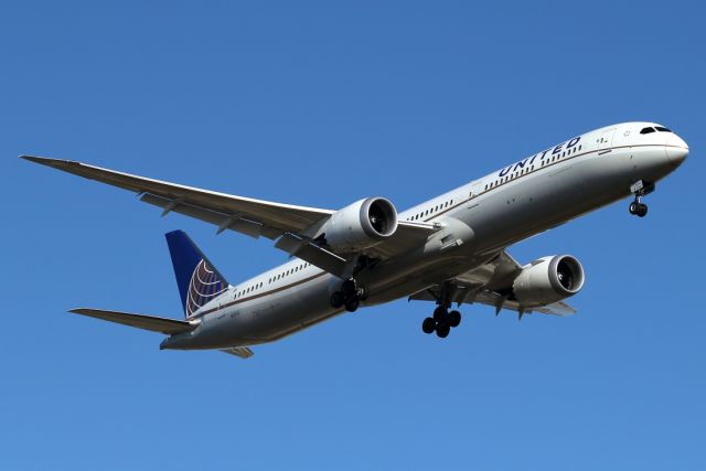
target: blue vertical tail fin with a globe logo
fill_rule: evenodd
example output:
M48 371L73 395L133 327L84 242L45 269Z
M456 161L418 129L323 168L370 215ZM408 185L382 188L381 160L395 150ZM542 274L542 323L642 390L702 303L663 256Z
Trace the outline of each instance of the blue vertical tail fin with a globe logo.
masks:
M172 256L176 285L184 307L184 317L191 318L202 306L223 293L228 281L183 231L165 234Z

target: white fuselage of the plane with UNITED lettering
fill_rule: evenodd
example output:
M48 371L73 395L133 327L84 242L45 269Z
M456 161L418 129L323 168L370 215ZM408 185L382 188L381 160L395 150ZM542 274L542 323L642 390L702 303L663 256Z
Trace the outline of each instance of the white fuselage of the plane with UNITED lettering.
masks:
M420 247L361 271L363 306L387 302L466 274L499 250L630 195L635 181L656 182L687 152L672 132L641 135L646 122L575 137L399 213L438 223ZM341 279L300 259L276 267L204 306L194 331L167 349L213 349L269 342L343 312L329 301Z

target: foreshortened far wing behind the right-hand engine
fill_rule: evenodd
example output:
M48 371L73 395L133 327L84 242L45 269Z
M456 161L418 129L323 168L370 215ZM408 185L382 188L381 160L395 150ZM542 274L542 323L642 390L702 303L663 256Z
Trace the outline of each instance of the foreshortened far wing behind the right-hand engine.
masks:
M448 297L451 303L492 306L498 315L501 310L510 309L523 314L542 312L553 315L571 315L577 311L564 301L553 302L539 308L523 309L520 302L509 299L512 281L522 270L522 266L506 251L500 251L490 261L473 270L467 271L443 283L432 285L409 297L410 301L437 301Z

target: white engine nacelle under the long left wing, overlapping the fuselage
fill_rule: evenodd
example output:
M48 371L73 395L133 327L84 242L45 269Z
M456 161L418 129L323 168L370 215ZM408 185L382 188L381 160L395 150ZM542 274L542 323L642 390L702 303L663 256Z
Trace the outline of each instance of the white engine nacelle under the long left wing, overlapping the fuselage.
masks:
M397 210L384 197L357 201L334 213L319 231L325 244L356 251L379 244L397 231Z

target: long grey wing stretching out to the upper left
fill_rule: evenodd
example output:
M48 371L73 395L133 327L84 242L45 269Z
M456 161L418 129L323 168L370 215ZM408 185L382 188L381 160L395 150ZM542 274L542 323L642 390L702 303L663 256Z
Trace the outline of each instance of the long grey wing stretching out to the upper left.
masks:
M255 238L265 236L269 239L279 239L276 247L334 275L342 275L351 258L351 254L330 251L301 235L307 228L329 218L335 213L333 210L236 196L71 160L20 157L31 162L133 191L140 195L140 201L161 207L162 215L174 212L205 221L218 227L217 234L229 229ZM392 237L367 253L379 258L389 258L424 243L436 231L438 227L431 224L400 221Z

